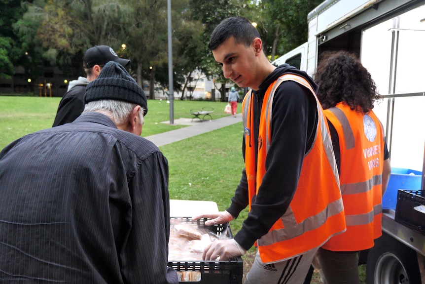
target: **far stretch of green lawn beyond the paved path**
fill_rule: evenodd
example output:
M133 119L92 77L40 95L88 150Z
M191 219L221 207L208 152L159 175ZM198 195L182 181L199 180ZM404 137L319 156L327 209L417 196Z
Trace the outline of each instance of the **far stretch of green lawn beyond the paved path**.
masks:
M10 142L37 130L49 128L55 119L61 98L37 96L0 96L0 149ZM192 118L190 111L212 107L213 119L228 116L225 102L174 100L174 119ZM166 100L148 100L142 136L158 134L186 125L161 123L170 121L170 104ZM241 108L239 104L239 108Z

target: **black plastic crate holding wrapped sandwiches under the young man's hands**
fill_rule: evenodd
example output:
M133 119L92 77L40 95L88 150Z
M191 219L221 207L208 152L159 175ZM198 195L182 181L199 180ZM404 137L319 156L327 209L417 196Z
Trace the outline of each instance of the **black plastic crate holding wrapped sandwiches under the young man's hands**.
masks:
M193 222L198 224L198 228L206 228L213 233L220 235L225 233L227 237L233 238L230 226L228 223L215 224L206 226L205 221L207 218L192 221L189 217L176 217L172 219L184 219L185 222ZM179 282L197 283L197 284L242 284L242 276L244 271L244 262L242 257L233 257L227 261L169 261L168 267L174 268L176 271L196 271L201 273L201 280L198 282Z

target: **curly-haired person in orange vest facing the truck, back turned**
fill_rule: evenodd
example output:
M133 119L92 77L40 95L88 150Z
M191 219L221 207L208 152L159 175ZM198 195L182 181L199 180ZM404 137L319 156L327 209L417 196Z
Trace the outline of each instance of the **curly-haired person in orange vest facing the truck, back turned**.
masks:
M382 197L390 157L381 122L373 112L375 82L349 52L322 54L315 81L329 123L344 202L347 231L318 252L327 284L358 284L358 253L382 235Z

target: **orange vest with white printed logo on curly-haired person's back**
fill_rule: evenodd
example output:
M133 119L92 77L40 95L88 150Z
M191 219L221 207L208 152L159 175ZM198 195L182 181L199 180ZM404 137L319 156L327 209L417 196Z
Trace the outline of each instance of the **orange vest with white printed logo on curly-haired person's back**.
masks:
M382 235L382 124L372 110L364 114L343 103L324 110L324 114L339 136L347 231L330 239L323 248L334 251L371 248L373 240Z

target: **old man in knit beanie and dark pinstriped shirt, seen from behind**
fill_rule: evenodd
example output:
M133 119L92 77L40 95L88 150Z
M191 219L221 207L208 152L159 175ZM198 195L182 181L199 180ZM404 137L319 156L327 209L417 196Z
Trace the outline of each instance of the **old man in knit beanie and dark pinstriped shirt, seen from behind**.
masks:
M140 137L142 88L110 61L74 122L0 152L4 283L177 284L168 162Z

